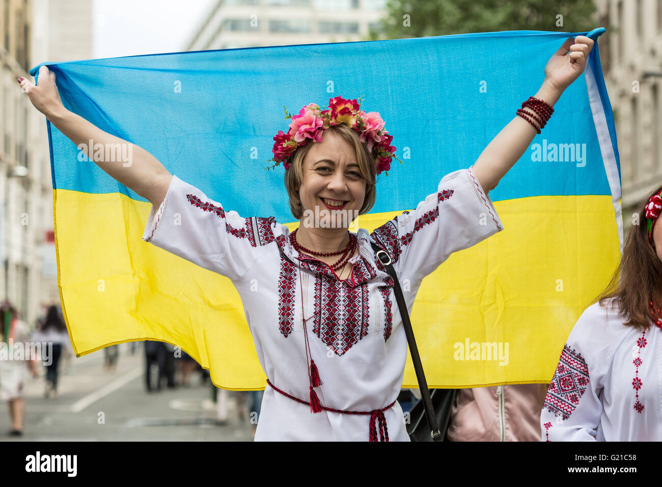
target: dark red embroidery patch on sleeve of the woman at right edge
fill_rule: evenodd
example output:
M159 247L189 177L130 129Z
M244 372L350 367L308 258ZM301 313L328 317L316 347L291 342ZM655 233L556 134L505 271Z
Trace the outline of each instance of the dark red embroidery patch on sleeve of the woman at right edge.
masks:
M589 366L579 352L565 344L559 365L549 384L544 407L553 414L561 411L563 419L568 419L586 392L588 384Z

